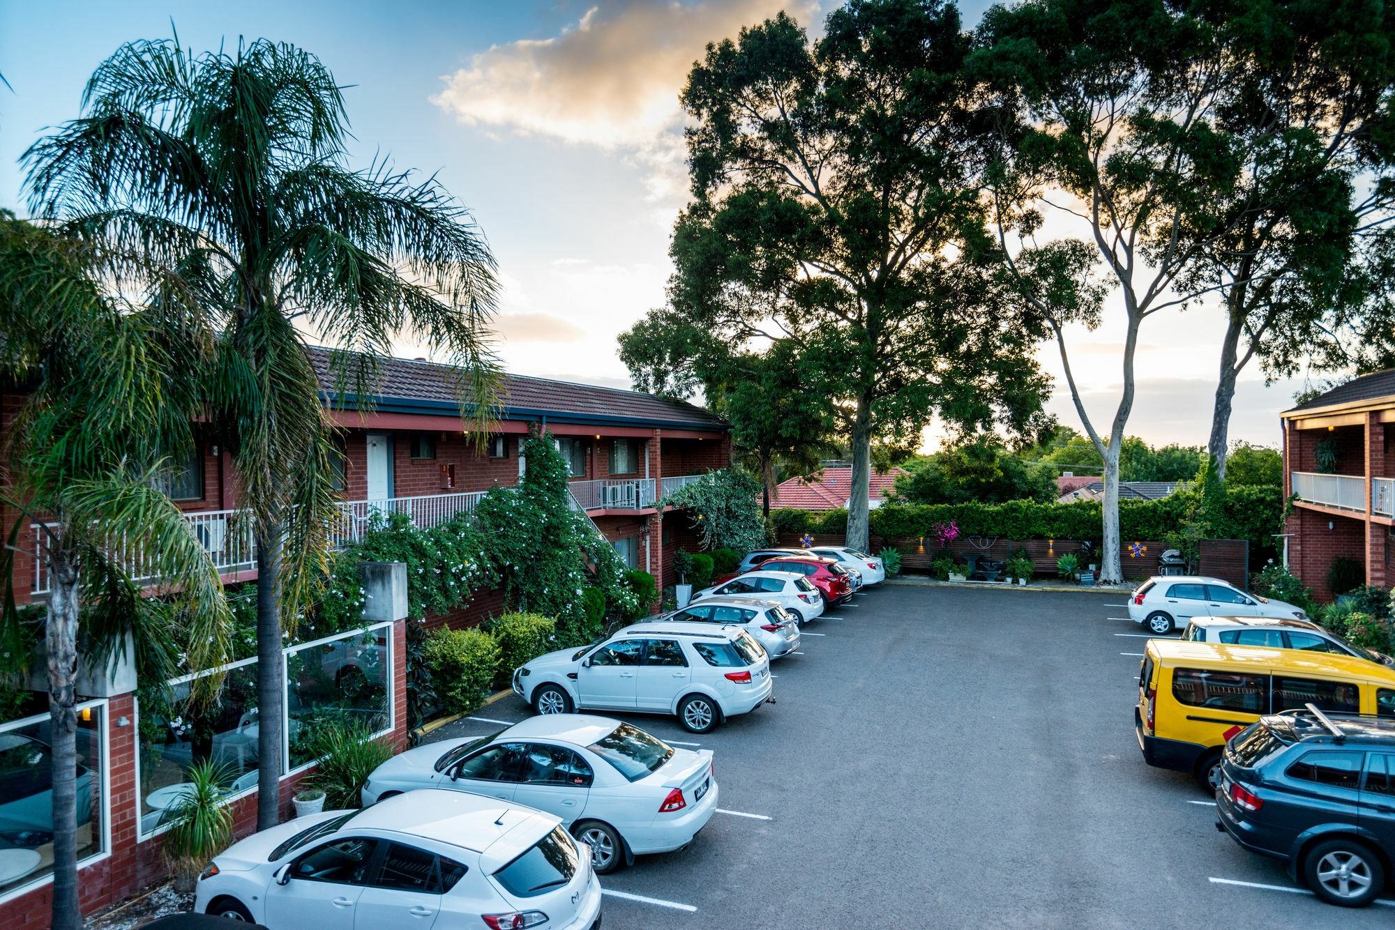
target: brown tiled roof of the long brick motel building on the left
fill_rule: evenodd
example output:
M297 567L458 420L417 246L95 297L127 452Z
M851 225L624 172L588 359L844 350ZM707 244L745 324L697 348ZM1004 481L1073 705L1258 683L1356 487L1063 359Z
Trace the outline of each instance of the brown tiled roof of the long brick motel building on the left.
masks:
M329 371L329 350L311 349L310 361L319 375L319 386L326 395L335 392L335 378ZM441 407L444 416L452 416L456 406L451 368L430 361L409 358L382 358L379 361L382 381L378 390L379 409L386 402L425 402ZM686 427L695 429L727 429L720 417L682 400L668 400L638 390L597 388L548 378L526 375L504 376L499 403L504 418L547 414L558 418L600 421L636 421L654 425Z

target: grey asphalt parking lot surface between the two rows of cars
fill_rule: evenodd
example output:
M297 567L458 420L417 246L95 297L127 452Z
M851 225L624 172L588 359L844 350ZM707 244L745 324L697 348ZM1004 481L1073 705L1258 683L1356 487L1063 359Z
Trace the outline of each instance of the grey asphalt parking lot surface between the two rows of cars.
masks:
M703 736L626 717L713 749L723 813L603 878L605 929L1389 927L1395 895L1314 899L1144 764L1122 602L882 586L805 626L776 704ZM432 738L530 712L509 696Z

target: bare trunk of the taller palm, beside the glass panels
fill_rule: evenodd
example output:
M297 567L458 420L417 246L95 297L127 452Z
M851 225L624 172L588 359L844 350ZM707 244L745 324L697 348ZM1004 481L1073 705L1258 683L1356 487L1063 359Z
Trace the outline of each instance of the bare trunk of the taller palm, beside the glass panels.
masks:
M257 830L280 823L280 725L285 664L280 636L280 523L257 533Z

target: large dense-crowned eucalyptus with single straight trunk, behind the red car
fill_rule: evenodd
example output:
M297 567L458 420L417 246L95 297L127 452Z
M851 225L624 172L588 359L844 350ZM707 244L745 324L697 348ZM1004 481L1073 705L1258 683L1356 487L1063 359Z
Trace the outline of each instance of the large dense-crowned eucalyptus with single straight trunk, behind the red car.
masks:
M1041 321L985 273L970 50L951 3L852 0L815 42L780 14L709 45L681 98L695 199L657 312L742 349L792 343L851 439L855 548L873 438L918 442L935 414L1025 429L1046 390Z

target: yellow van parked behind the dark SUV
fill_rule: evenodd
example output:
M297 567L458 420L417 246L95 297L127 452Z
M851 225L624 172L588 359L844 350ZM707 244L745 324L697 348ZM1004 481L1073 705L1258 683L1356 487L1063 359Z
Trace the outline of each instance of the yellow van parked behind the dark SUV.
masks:
M1214 792L1228 739L1307 704L1395 717L1395 669L1335 653L1148 640L1134 728L1149 765L1191 772Z

